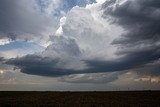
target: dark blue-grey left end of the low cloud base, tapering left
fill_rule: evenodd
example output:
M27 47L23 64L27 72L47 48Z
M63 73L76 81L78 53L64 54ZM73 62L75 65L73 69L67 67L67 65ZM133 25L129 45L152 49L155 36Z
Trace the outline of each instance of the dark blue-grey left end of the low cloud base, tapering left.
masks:
M67 70L56 68L59 59L52 60L47 57L37 55L27 55L25 57L10 59L7 64L12 64L21 69L21 72L31 75L41 76L61 76L70 74Z

